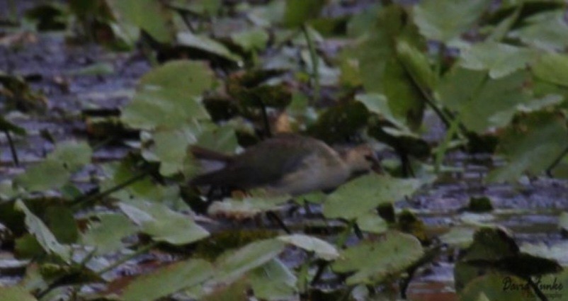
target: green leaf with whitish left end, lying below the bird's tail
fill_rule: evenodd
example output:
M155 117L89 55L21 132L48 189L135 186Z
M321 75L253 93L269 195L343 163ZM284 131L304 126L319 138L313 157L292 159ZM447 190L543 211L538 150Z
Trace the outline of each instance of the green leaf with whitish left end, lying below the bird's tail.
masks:
M209 236L209 232L195 224L187 215L170 210L165 205L145 200L118 204L142 232L158 242L190 244Z

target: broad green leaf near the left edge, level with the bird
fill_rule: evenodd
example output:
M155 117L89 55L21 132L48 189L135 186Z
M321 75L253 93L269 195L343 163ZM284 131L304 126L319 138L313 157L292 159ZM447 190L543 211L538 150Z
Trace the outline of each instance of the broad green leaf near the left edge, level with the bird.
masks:
M14 182L28 191L60 188L69 181L72 173L91 162L91 155L91 147L86 142L62 142L45 160L30 166Z

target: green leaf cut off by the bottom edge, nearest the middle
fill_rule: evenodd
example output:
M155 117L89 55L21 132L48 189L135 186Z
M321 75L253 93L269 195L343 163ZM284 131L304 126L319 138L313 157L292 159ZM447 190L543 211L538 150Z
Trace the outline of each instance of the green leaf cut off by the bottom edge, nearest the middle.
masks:
M297 279L282 261L272 259L247 273L254 296L261 300L292 300Z

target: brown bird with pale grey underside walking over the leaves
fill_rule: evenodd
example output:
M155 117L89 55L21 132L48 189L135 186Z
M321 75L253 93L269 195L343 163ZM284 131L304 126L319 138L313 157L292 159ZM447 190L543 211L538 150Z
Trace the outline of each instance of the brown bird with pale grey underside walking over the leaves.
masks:
M271 195L302 195L331 191L353 176L377 169L375 152L367 144L336 151L313 137L281 134L229 155L192 147L193 157L220 161L221 169L195 176L193 186L250 190Z

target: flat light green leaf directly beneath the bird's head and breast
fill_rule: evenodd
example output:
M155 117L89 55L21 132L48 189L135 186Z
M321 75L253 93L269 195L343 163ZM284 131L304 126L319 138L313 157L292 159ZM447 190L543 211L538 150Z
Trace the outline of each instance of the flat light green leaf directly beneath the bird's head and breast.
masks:
M352 220L378 205L394 203L405 195L411 195L420 186L421 181L414 179L391 178L377 174L360 176L339 186L328 196L324 202L324 216Z

